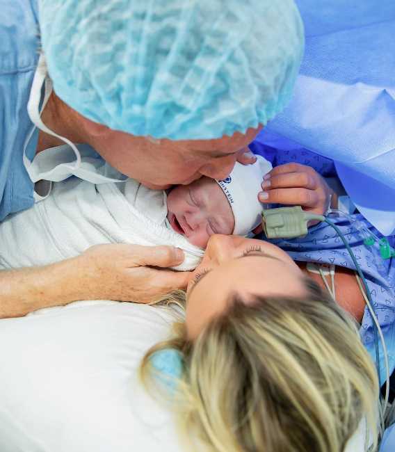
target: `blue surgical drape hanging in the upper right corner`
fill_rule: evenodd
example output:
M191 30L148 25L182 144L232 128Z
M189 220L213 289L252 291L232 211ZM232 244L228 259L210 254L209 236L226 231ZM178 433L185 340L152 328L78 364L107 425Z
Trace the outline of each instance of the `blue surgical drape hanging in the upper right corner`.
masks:
M291 104L260 139L270 133L333 159L360 212L395 234L395 1L297 3L305 58Z

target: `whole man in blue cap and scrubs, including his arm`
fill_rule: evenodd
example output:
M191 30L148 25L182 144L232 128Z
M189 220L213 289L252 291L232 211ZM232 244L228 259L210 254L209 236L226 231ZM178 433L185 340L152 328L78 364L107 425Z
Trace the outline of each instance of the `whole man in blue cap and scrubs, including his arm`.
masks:
M0 0L0 220L72 175L167 188L255 160L247 146L289 101L302 58L293 0L140 3ZM89 145L88 160L74 143ZM102 245L5 272L0 317L154 297L188 274L151 267L182 259L173 248Z

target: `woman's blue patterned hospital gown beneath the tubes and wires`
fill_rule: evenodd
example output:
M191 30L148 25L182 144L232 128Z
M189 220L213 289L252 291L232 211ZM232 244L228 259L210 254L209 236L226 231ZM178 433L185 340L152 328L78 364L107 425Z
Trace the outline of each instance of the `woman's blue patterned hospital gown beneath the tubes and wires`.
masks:
M271 144L273 147L261 143L258 138L250 147L255 154L261 154L271 161L273 167L295 162L311 166L324 177L334 177L336 175L332 160L324 156L306 150L296 143L290 143L288 149L282 150L275 149L274 141ZM378 238L382 238L382 235L360 213L351 215L351 218L355 220L354 226L350 225L346 217L332 219L332 221L346 237L368 283L373 308L385 337L389 354L389 373L391 374L395 369L395 258L382 259L377 247L364 245L363 237L356 229L356 222L376 234ZM395 236L389 236L387 239L389 245L395 248ZM272 242L288 252L296 261L334 264L355 270L353 261L343 242L327 223L320 223L310 227L309 234L303 238L277 239L272 240ZM360 334L373 361L376 361L374 324L367 307L362 319ZM385 364L381 344L379 347L382 383L385 379Z

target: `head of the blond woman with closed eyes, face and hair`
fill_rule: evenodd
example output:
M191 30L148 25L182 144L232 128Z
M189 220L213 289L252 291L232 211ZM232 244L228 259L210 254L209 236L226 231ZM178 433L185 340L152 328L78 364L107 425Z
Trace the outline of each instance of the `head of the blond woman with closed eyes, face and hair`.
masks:
M340 452L365 421L376 444L378 381L355 321L280 248L213 236L186 295L166 301L185 318L141 376L166 383L188 444Z

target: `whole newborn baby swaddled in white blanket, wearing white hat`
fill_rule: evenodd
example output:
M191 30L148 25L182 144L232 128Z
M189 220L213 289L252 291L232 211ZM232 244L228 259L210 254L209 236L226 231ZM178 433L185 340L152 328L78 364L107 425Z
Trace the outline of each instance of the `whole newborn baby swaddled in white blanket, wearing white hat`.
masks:
M134 243L181 248L185 260L176 269L191 270L209 236L246 235L259 224L257 193L270 170L259 157L251 166L236 163L223 181L204 177L169 194L134 179L91 184L70 177L0 223L0 269L52 264L102 243Z

